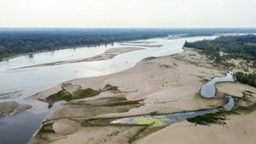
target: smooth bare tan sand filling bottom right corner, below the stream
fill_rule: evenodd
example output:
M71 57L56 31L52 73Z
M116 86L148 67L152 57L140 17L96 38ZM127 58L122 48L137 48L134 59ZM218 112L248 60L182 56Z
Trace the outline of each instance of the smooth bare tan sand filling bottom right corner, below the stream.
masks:
M137 141L137 144L254 144L256 113L229 117L226 125L194 125L183 121Z

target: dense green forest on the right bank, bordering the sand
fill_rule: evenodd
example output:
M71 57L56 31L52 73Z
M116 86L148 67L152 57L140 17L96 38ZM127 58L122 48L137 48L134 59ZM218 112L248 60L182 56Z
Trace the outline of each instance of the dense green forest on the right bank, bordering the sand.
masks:
M230 58L243 58L253 61L256 67L256 35L218 37L214 40L201 40L193 43L186 42L184 47L194 47L202 50L209 59L216 63L229 60ZM225 54L220 56L219 52Z

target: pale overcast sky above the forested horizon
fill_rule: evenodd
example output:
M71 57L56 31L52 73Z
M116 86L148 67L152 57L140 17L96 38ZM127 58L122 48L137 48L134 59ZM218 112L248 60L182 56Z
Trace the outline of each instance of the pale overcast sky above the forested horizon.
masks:
M256 27L256 0L0 0L0 27Z

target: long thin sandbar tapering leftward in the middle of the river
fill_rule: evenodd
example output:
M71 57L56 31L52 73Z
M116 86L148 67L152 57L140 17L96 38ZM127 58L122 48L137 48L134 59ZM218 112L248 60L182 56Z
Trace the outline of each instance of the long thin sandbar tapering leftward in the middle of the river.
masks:
M139 48L139 47L112 48L112 49L105 51L105 53L103 53L103 54L98 54L91 58L82 58L82 59L76 59L76 60L70 60L70 61L57 61L57 62L51 62L51 63L46 63L46 64L40 64L40 65L30 65L30 66L21 67L21 68L32 68L32 67L49 66L49 65L63 65L63 64L76 63L76 62L104 61L104 60L115 58L116 55L118 55L118 54L124 54L126 52L138 51L138 50L142 50L142 49L144 49L144 48ZM15 68L15 69L17 69L17 68Z

